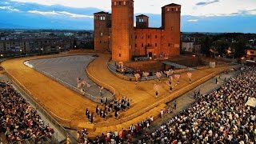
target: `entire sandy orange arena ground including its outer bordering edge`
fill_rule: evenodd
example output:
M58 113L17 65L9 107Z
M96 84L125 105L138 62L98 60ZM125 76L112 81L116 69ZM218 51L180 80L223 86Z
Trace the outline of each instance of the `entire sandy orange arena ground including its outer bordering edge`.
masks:
M68 55L54 55L54 57L59 56ZM116 120L114 116L107 117L106 121L96 117L96 124L90 124L87 122L85 110L88 108L91 112L94 112L95 107L98 105L96 102L90 101L82 95L66 88L66 86L62 86L53 79L23 64L23 62L27 60L47 57L53 56L10 59L2 62L2 67L4 67L6 73L9 74L18 85L26 89L31 97L50 112L63 126L72 129L86 127L90 132L90 137L109 130L127 129L131 124L141 122L151 115L157 118L159 111L165 108L166 102L170 102L170 100L186 93L186 91L202 84L202 82L213 78L215 75L222 72L222 70L229 68L225 66L194 70L191 72L192 84L189 83L186 73L181 74L180 84L174 86L174 90L170 94L168 86L166 85L166 78L162 78L162 83L158 83L157 80L152 80L139 82L137 86L134 82L117 78L106 66L106 62L110 60L110 54L99 54L99 57L95 58L95 60L89 64L87 68L88 73L92 74L94 78L98 78L100 81L113 86L116 92L116 98L127 97L131 98L132 102L130 109L126 110L126 112L121 112L118 120ZM86 74L86 70L84 72ZM174 82L176 82L176 79L174 79ZM158 98L154 97L154 84L160 85Z

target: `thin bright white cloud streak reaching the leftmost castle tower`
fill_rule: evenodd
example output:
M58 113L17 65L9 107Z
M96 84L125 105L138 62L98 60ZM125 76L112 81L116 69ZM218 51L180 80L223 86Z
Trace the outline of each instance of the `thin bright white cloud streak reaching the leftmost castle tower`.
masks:
M29 10L27 11L28 13L31 14L42 14L42 15L62 15L62 16L67 16L70 18L94 18L94 16L90 15L84 15L84 14L73 14L67 11L38 11L38 10Z

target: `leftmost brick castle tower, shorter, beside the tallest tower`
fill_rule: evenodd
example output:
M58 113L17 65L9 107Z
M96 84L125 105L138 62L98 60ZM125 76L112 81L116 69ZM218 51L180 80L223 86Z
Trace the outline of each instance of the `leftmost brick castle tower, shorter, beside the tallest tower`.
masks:
M111 14L94 13L94 50L110 51Z

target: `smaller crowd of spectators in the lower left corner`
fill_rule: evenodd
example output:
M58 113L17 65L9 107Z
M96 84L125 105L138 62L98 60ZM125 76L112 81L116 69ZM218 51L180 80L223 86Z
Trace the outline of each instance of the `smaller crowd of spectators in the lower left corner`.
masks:
M24 139L46 136L51 138L54 130L45 124L21 94L7 82L0 82L0 132L7 142L21 142Z

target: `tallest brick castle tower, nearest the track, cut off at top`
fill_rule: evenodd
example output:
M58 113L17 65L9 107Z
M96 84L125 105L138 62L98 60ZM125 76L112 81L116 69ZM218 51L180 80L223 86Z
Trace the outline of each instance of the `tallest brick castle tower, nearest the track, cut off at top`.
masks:
M134 49L134 1L112 0L112 58L128 62Z

